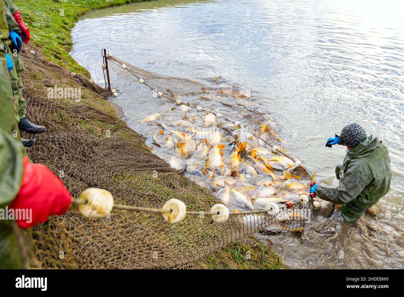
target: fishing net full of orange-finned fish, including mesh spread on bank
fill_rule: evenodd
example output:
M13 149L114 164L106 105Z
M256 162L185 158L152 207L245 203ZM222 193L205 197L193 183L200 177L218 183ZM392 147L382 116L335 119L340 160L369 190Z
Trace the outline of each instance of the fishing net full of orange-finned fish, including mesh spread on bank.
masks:
M24 63L53 85L49 65ZM32 234L16 231L21 249L29 247L22 252L27 266L188 268L250 234L302 230L312 204L311 177L288 156L253 98L235 86L162 76L111 55L104 56L103 70L113 93L140 82L156 98L170 100L171 112L182 119L156 121L152 115L144 121L156 125L156 133L144 137L121 120L112 102L95 104L90 96L62 102L36 97L38 86L27 86L32 117L50 131L38 135L29 157L61 177L74 199L96 187L108 190L114 204L99 217L72 207ZM240 105L220 114L221 106ZM159 157L164 153L170 158ZM171 205L174 200L179 202Z

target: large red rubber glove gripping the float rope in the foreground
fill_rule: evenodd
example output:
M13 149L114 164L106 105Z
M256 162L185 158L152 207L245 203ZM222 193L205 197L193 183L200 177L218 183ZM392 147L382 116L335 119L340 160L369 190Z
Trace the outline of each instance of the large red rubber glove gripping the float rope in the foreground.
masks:
M62 181L45 165L29 163L26 156L23 157L23 163L20 191L8 206L8 209L32 209L28 219L16 218L19 227L32 227L46 221L50 215L63 215L69 208L72 197ZM25 213L29 216L29 211Z

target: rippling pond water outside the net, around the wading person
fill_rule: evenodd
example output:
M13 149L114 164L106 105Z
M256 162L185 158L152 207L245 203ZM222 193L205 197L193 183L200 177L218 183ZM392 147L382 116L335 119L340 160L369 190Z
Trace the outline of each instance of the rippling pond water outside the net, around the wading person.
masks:
M72 56L104 84L101 48L153 72L185 78L221 76L252 89L278 132L316 180L336 184L345 149L324 147L358 122L389 147L390 192L343 223L323 202L303 236L261 235L290 268L403 268L404 2L217 0L152 1L92 11L72 32ZM116 102L128 124L161 110L134 84Z

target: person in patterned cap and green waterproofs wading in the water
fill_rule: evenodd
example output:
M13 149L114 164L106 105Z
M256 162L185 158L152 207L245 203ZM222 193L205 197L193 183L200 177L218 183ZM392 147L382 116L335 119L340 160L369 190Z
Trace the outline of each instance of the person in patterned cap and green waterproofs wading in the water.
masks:
M328 138L326 147L334 144L347 147L343 164L335 169L339 185L313 185L310 192L323 200L343 204L342 216L352 223L389 192L389 152L379 138L367 135L358 124L347 125L341 135Z

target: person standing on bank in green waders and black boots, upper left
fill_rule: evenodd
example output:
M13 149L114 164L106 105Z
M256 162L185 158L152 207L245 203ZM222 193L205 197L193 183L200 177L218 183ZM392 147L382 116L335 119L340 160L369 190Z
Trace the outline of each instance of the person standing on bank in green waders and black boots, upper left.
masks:
M7 7L5 8L8 29L9 29L9 42L8 48L11 50L11 59L13 59L13 70L10 72L11 88L13 89L15 117L17 119L18 127L22 131L29 133L43 133L46 131L45 126L38 126L33 124L25 117L25 106L27 102L23 98L23 81L21 75L25 72L25 67L21 61L19 52L22 44L28 43L30 35L29 29L21 19L21 13L14 5L12 0L6 0ZM11 41L11 42L10 42ZM34 145L35 139L21 139L26 147Z

